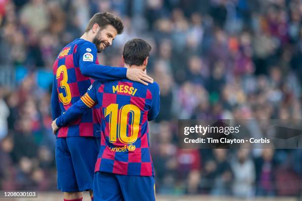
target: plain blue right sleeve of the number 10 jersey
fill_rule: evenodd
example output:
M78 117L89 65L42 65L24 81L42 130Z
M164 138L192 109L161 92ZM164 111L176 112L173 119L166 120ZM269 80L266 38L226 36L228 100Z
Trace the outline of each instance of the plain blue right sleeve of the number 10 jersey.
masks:
M153 83L151 93L152 93L152 102L151 102L151 108L148 111L148 121L152 121L153 119L155 119L160 109L159 86L155 82Z

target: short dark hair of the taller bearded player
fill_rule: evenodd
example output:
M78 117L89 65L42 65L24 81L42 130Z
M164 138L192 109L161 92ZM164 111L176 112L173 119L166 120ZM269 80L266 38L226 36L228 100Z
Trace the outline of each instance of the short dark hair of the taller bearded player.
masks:
M121 19L109 12L95 13L89 20L85 32L91 30L94 24L98 24L101 27L101 30L107 25L112 25L116 29L117 34L121 34L124 31L124 25Z

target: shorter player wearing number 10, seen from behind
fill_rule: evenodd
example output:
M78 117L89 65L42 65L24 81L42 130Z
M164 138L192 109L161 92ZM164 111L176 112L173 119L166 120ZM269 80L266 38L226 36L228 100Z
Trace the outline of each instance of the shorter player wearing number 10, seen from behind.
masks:
M129 40L123 50L124 66L145 71L150 50L150 44L143 39ZM159 113L157 83L146 86L125 78L110 82L98 79L80 100L53 121L53 130L74 121L95 104L102 116L101 148L93 182L95 199L154 201L148 121Z

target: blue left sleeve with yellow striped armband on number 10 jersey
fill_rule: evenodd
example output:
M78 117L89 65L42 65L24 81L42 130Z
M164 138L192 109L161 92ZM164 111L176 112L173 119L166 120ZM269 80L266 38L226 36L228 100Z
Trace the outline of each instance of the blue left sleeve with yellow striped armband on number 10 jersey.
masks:
M58 127L66 126L72 121L78 119L84 112L97 104L97 85L98 81L95 81L87 90L87 92L76 101L64 114L60 115L56 124Z

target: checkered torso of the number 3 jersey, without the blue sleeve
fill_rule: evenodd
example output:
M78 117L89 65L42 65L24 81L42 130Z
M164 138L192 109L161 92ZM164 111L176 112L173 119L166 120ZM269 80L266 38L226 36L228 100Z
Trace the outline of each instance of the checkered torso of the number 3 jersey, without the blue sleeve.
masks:
M58 92L58 99L62 113L83 96L93 80L82 75L79 68L78 49L87 41L76 39L66 45L56 58L53 65L55 87ZM92 43L91 43L92 44ZM89 50L89 48L88 48ZM96 64L98 60L96 59ZM68 126L62 127L57 137L70 136L100 136L100 117L95 112L95 108L87 110L81 118L72 122Z

